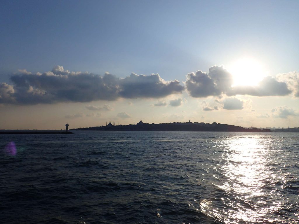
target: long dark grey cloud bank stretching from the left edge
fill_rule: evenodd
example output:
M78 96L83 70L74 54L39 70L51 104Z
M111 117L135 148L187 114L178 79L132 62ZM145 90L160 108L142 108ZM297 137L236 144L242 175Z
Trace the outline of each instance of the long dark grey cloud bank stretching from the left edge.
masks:
M158 74L126 78L105 73L70 72L55 66L46 73L31 74L26 70L11 76L13 85L0 85L0 103L38 104L56 102L91 102L123 98L159 98L181 93L179 81L165 81Z

